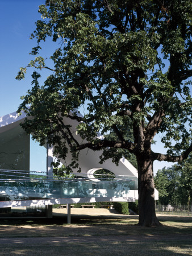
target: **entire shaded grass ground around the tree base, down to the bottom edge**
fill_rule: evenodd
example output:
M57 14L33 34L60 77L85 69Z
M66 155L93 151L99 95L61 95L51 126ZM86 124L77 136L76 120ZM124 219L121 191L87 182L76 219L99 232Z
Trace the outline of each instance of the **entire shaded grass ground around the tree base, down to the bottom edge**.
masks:
M0 255L192 255L192 218L158 218L160 228L137 226L137 216L0 220Z

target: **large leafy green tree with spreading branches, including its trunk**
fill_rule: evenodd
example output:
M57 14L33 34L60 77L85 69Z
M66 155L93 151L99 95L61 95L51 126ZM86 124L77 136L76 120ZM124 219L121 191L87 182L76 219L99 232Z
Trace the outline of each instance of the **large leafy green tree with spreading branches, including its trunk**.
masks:
M28 66L51 75L40 86L39 73L32 74L32 89L19 112L24 109L34 118L23 128L41 144L56 145L55 154L62 158L70 150L69 168L77 168L78 153L85 148L103 150L101 162L118 162L119 149L134 154L139 225L160 225L153 162L182 161L192 150L190 0L47 0L39 12L43 19L31 34L37 39L31 52L36 57ZM56 43L50 65L39 56L40 43L48 37ZM20 68L18 79L26 68ZM76 112L80 108L86 110L84 117ZM78 134L86 140L78 143L62 116L76 119ZM133 140L124 137L130 126ZM113 131L116 139L99 139L98 131ZM167 154L151 149L157 133L163 133Z

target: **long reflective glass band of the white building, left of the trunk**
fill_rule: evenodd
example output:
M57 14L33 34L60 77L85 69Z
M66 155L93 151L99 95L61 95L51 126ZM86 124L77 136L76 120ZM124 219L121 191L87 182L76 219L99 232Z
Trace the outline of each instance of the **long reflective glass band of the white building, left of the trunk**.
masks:
M128 197L135 190L135 180L118 178L114 180L94 181L85 178L45 179L43 175L28 175L17 172L0 172L0 201L61 199L80 197ZM37 178L37 176L39 176Z

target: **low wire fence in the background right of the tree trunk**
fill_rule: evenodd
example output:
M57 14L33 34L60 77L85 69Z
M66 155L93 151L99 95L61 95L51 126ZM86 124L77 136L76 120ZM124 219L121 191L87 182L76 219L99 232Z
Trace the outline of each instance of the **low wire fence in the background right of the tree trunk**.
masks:
M159 214L175 214L175 215L192 217L192 205L188 206L188 205L156 204L155 210L156 210L156 213L159 213Z

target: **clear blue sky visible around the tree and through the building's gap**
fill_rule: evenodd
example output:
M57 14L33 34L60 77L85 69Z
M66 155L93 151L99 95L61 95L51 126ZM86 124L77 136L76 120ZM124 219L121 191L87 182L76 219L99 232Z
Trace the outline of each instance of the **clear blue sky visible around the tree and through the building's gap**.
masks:
M0 117L18 109L22 102L20 96L26 94L31 88L31 76L27 73L23 81L15 80L20 67L25 67L31 60L29 52L36 46L35 40L30 40L30 34L35 30L35 22L40 19L38 6L43 4L43 0L1 0L0 14L1 26L1 101ZM53 44L49 41L44 44L43 56L50 56L53 51ZM47 73L44 73L44 77ZM156 145L153 151L165 153L163 145L160 143L160 135L156 135ZM35 146L32 143L33 152L31 155L31 170L44 170L46 164L41 155L45 155L45 149ZM171 166L172 163L154 163L154 171L164 166Z

